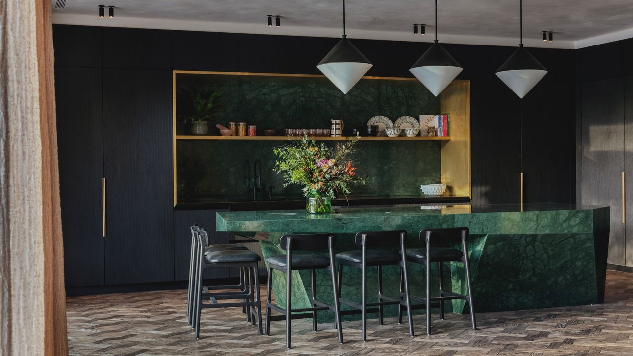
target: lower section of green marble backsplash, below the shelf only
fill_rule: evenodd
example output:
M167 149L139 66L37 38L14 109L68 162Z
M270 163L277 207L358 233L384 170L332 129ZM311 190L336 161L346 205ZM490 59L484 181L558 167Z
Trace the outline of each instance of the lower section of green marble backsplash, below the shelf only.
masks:
M272 149L286 141L178 141L178 200L252 199L254 162L261 162L261 182L275 186L273 196L301 196L299 186L284 189L273 172ZM353 188L358 196L420 194L420 184L440 179L439 141L360 141L352 156L356 172L367 177ZM263 196L266 196L264 193Z

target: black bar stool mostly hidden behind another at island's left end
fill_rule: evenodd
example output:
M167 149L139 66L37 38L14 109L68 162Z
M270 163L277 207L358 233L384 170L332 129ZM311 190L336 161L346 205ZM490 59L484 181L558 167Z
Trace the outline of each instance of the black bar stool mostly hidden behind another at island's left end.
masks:
M191 325L192 327L194 326L193 324L193 315L194 315L194 286L195 286L195 281L196 281L196 273L197 273L197 269L198 269L198 258L196 255L196 251L197 251L197 235L196 232L200 231L200 227L197 226L197 224L194 224L194 226L192 226L190 228L191 230L191 257L189 258L189 290L187 291L187 317L188 317L188 322L189 325ZM213 251L222 251L222 250L248 250L248 248L246 248L246 246L243 245L237 245L237 244L233 244L233 243L227 243L227 244L215 244L215 245L209 245L205 248L204 253L208 254L211 253ZM244 268L239 269L239 277L240 277L240 281L239 284L237 286L203 286L203 288L206 289L239 289L240 291L246 293L246 281L247 281L247 276L246 276L247 270L245 270ZM246 313L246 307L242 307L242 314L247 314ZM251 321L251 314L248 313L246 315L247 321L250 322Z

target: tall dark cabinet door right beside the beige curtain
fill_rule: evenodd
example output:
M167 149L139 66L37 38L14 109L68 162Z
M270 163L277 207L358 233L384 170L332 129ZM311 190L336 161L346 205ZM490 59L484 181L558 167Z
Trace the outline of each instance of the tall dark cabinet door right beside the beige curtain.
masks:
M55 68L67 287L103 285L101 68Z

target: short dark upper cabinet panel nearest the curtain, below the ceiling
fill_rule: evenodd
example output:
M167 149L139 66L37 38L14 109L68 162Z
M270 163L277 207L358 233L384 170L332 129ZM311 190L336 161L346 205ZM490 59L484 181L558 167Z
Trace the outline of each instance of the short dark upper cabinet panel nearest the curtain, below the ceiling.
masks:
M54 25L55 65L63 67L101 67L103 27Z

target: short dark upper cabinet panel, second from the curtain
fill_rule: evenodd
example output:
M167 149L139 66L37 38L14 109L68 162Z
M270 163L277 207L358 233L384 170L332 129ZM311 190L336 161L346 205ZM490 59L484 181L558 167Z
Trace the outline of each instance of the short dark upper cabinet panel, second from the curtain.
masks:
M172 70L172 31L104 27L103 67Z

